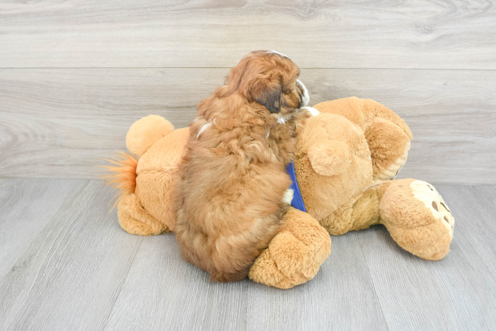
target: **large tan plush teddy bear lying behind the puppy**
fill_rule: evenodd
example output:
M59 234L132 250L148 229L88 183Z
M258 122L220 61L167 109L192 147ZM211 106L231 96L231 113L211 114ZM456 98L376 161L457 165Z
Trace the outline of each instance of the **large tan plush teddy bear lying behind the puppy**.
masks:
M373 100L355 97L314 107L320 114L307 120L294 155L296 187L306 212L290 208L249 277L278 288L294 287L312 279L330 254L329 233L374 224L384 224L412 254L429 260L444 257L454 219L441 196L424 181L391 180L410 146L404 121ZM131 126L126 143L139 161L126 156L110 167L116 173L110 183L122 192L118 219L129 233L174 230L175 185L188 130L174 130L156 115Z

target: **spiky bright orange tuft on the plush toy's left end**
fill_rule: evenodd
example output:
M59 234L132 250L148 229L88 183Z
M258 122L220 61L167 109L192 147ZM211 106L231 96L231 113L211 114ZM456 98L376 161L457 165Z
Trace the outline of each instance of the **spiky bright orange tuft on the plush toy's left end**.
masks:
M102 178L107 181L107 185L117 188L120 193L115 196L115 203L112 210L117 206L120 199L126 194L133 194L136 189L136 167L138 160L133 158L128 153L120 152L115 155L113 159L103 159L115 166L102 166L102 168L114 173L113 175L103 176Z

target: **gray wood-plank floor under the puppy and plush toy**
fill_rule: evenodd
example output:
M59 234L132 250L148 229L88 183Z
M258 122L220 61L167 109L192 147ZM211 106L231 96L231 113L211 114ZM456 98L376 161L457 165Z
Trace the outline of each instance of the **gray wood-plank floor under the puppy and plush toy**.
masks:
M278 290L209 282L174 234L121 230L101 181L0 179L0 329L496 329L496 186L437 188L456 218L443 260L375 226L333 237L313 280Z

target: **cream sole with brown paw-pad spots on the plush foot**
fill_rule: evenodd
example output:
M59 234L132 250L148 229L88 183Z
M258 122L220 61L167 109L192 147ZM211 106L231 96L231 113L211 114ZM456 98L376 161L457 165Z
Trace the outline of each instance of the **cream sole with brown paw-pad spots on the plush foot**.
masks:
M449 235L453 237L454 218L441 195L436 188L423 180L414 180L410 183L411 193L414 197L430 210L432 216L442 222L449 231Z

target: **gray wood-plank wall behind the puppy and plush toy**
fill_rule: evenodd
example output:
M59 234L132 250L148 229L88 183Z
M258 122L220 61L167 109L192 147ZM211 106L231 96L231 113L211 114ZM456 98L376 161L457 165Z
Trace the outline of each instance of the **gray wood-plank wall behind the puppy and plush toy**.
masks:
M496 183L493 1L0 1L0 177L95 178L129 126L187 126L253 50L311 103L381 102L414 133L402 177Z

